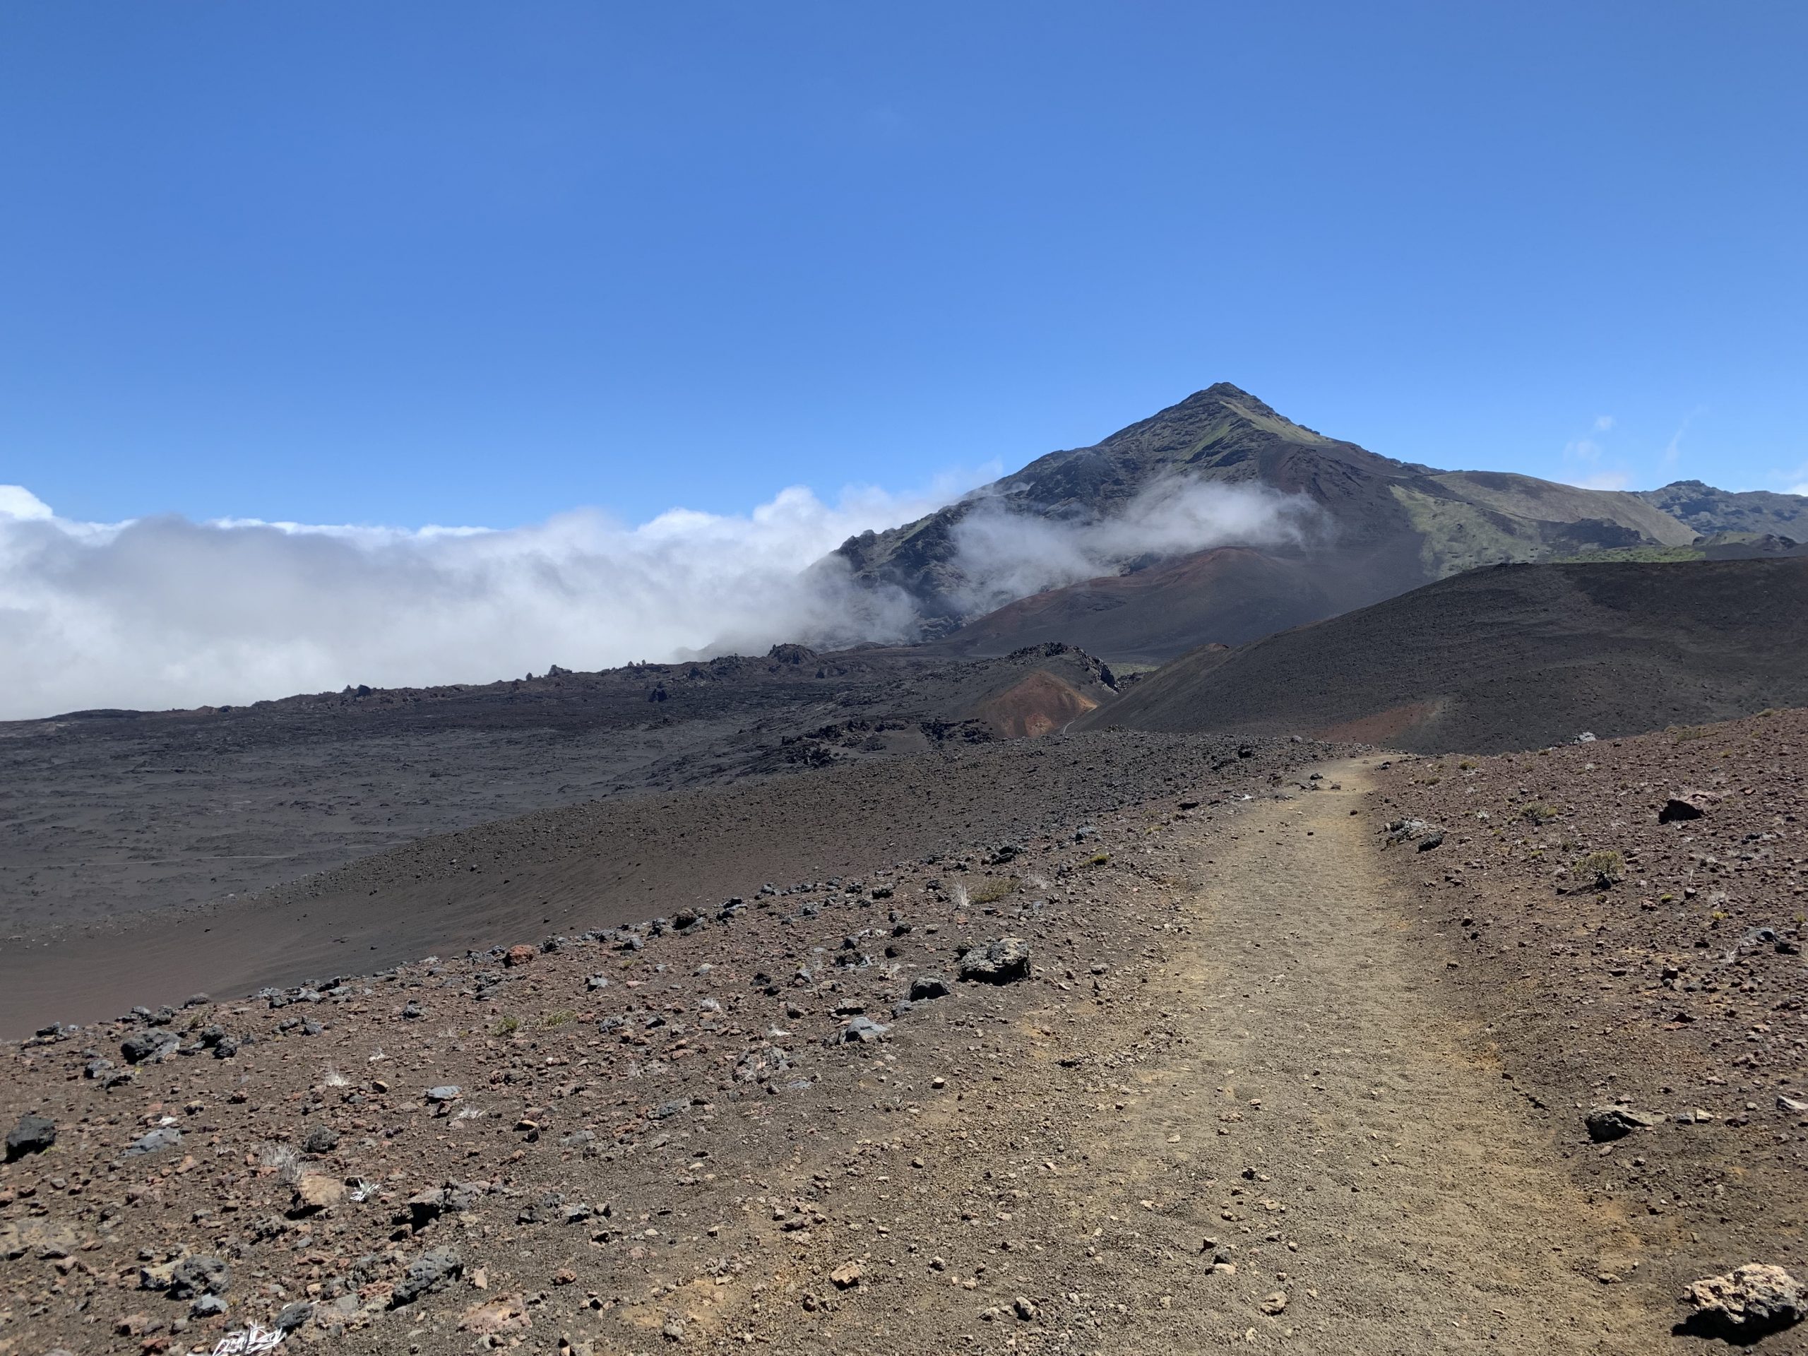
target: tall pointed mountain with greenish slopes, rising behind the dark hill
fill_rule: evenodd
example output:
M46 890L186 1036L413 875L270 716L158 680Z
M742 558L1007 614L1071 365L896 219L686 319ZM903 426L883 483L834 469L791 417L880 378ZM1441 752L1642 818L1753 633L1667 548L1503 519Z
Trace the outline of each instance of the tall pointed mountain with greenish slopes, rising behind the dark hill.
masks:
M1054 570L1038 579L1025 568L1005 598L978 588L985 553L975 541L1005 535L1000 524L1078 533L1130 521L1150 497L1188 486L1284 495L1295 537L1224 530L1199 548L1175 548L1123 532L1121 550L1099 560L1092 579ZM1714 512L1728 519L1781 523L1784 508L1768 501L1808 508L1792 495L1765 495L1761 506L1752 495L1710 494L1719 495ZM1394 461L1219 383L1094 447L1050 452L915 523L852 537L837 555L859 584L908 595L922 635L949 653L1007 654L1065 640L1108 660L1159 662L1202 642L1240 644L1332 617L1477 566L1678 550L1707 532L1723 528L1685 523L1651 495Z

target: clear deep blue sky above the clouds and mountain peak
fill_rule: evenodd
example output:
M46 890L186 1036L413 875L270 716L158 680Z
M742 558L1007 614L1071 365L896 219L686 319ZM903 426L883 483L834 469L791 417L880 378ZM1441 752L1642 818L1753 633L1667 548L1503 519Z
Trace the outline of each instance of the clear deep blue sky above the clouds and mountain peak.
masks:
M9 4L0 483L638 521L1231 380L1407 459L1783 488L1804 47L1725 0Z

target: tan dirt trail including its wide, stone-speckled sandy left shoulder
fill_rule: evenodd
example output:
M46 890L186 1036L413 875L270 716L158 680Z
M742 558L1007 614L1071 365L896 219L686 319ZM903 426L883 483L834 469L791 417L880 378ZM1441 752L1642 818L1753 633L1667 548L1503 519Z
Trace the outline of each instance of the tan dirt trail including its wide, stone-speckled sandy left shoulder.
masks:
M1625 1219L1587 1204L1441 1002L1446 960L1412 946L1383 884L1363 767L1320 767L1340 790L1148 830L1163 870L1144 880L1164 884L1087 933L1117 964L1087 975L1076 949L1081 984L1022 1011L1012 1040L964 1047L989 1069L951 1070L965 1108L929 1110L873 1161L915 1182L890 1238L861 1244L853 1202L824 1204L852 1237L772 1275L808 1322L781 1302L729 1331L781 1352L1689 1345L1674 1296L1640 1284ZM890 1072L909 1083L902 1054ZM823 1154L814 1181L835 1168ZM859 1293L801 1295L850 1255Z

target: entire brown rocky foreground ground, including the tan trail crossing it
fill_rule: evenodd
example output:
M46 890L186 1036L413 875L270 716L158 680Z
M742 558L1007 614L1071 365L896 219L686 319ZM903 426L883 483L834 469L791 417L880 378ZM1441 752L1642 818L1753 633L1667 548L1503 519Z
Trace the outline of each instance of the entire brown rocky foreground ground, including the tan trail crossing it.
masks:
M47 1032L0 1083L0 1352L1804 1351L1775 1273L1732 1293L1770 1323L1680 1302L1797 1266L1804 732L1249 745Z

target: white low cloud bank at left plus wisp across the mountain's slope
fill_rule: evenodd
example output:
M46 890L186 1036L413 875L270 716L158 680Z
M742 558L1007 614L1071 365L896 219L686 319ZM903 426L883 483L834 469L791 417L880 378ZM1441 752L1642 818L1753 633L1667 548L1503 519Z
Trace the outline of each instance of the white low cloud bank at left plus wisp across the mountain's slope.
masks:
M508 530L400 530L96 524L0 486L0 718L492 682L779 640L909 640L908 597L857 588L839 557L817 562L958 488L855 490L833 504L790 488L745 515L673 510L640 526L584 510ZM982 503L958 541L976 613L1135 555L1293 532L1275 495L1193 486L1087 524Z

